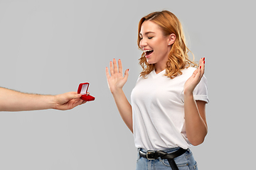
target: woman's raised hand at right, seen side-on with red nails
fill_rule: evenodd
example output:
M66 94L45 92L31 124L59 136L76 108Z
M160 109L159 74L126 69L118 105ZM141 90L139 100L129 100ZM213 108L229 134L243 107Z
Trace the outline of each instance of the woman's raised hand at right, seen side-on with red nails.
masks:
M205 70L205 57L199 61L198 69L193 72L193 75L184 84L184 94L193 94L193 90L201 81Z

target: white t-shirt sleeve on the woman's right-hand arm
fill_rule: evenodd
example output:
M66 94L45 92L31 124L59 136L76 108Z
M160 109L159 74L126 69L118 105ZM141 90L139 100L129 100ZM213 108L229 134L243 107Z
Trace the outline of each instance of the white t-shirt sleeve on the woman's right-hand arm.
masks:
M198 83L193 91L193 97L196 101L205 101L209 103L208 98L208 83L206 77L203 75L201 81Z

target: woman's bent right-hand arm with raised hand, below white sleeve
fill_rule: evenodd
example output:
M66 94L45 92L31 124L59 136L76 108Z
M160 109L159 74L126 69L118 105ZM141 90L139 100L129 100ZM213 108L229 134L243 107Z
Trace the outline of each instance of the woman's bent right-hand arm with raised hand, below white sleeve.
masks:
M203 143L207 135L208 127L206 123L206 102L195 101L193 98L193 90L201 81L205 69L204 58L200 60L199 68L193 72L192 77L186 81L184 85L184 111L186 135L192 145L200 145Z

